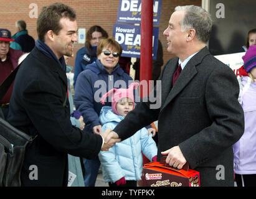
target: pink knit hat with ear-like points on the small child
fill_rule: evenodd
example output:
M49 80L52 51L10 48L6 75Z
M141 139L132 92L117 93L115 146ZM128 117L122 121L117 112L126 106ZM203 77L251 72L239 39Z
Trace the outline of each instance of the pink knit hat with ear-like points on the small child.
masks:
M133 101L133 109L134 109L134 96L133 96L133 90L137 89L138 86L140 85L140 83L138 82L134 82L131 83L128 86L128 89L126 88L113 88L110 91L108 91L108 93L106 93L105 95L102 96L102 99L100 99L100 103L105 104L105 99L111 95L111 106L113 109L113 112L115 114L118 114L116 111L116 103L118 103L118 101L120 101L120 99L123 98L130 98Z

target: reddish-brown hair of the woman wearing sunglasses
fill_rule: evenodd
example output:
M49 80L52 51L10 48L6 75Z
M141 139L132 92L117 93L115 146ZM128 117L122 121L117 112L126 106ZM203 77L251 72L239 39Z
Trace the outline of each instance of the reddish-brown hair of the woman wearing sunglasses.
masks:
M111 47L111 48L115 49L116 52L119 54L119 58L121 57L121 53L122 53L123 49L122 49L121 45L118 42L116 42L116 40L113 37L109 37L107 39L100 40L100 43L98 44L98 47L97 47L97 57L98 57L98 55L100 55L100 53L102 53L102 50L105 47Z

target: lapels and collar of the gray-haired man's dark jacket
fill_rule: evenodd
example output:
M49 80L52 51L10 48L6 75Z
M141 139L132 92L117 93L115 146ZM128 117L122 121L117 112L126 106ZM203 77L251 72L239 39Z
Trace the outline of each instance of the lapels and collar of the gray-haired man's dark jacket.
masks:
M199 65L202 60L204 59L204 57L206 57L207 55L210 55L209 50L207 49L207 47L204 47L202 50L200 50L196 55L194 55L194 57L191 58L191 60L189 60L189 62L187 62L186 67L182 70L181 75L179 75L178 80L176 81L175 85L173 86L173 74L176 70L176 68L178 67L178 58L175 58L176 60L174 60L173 63L176 62L176 67L171 67L171 69L169 70L169 76L171 78L169 78L169 81L167 83L164 82L164 84L166 86L170 86L171 91L169 91L169 94L166 98L166 100L164 101L164 104L161 108L161 110L163 110L184 88L185 86L192 80L192 78L194 78L194 76L196 76L197 74L197 69L196 66ZM166 88L166 86L164 86L165 89L169 89L170 88ZM164 92L164 90L163 90ZM163 93L164 94L164 93ZM165 97L164 95L162 95L163 97Z

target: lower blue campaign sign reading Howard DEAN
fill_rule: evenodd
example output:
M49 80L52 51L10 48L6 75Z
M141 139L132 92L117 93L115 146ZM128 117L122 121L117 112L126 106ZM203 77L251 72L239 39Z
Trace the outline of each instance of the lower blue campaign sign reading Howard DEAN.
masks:
M153 60L158 50L159 27L153 27ZM139 25L114 24L113 37L123 48L122 57L140 58L141 35Z

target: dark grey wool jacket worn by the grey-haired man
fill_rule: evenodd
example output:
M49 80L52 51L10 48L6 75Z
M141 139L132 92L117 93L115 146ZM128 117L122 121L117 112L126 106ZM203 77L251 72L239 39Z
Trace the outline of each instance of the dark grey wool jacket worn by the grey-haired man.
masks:
M177 67L178 58L169 60L159 78L161 108L140 103L114 131L126 139L158 120L158 160L161 152L179 146L191 169L200 172L202 186L234 186L232 145L244 132L234 72L207 47L189 60L173 86Z

